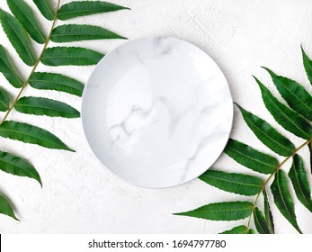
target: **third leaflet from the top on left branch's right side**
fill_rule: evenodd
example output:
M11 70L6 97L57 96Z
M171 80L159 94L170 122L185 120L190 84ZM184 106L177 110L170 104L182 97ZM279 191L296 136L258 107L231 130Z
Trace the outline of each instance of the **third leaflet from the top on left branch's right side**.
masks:
M47 66L88 66L96 65L103 54L93 49L76 47L54 47L43 52L41 62Z

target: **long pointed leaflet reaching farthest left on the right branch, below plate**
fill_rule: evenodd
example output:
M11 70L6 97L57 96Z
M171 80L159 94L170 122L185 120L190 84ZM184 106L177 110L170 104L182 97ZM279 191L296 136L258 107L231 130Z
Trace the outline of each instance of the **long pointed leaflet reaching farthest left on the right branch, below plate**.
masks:
M174 213L206 220L242 220L253 211L252 202L218 202L201 206L192 211Z

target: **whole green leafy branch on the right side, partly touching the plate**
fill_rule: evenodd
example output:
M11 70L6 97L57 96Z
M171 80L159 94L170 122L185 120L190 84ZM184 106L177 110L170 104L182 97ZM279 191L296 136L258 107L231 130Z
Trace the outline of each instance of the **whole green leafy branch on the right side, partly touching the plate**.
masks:
M302 57L303 65L312 85L312 60L308 58L308 55L303 49ZM281 94L284 102L286 102L285 104L279 101L259 79L254 77L260 87L266 109L282 128L290 131L300 139L305 139L305 141L296 148L290 139L282 135L272 124L236 104L243 115L246 125L253 131L257 139L263 142L267 148L284 157L284 159L278 162L273 156L274 153L272 153L273 155L268 155L236 139L228 140L227 147L224 150L228 157L233 158L240 165L254 172L266 174L268 177L263 181L260 177L258 178L254 175L208 170L200 176L200 179L226 192L255 195L254 201L209 203L193 211L175 213L177 215L208 220L240 220L248 217L246 225L236 226L233 229L222 232L222 234L254 234L255 231L251 228L251 225L253 225L252 220L254 220L254 227L258 233L273 234L275 227L269 197L266 193L266 190L269 188L273 196L272 203L281 211L282 216L299 233L302 233L298 225L295 204L290 194L288 179L282 169L290 159L293 159L293 162L288 175L296 196L299 202L309 211L312 211L308 173L304 166L303 158L298 154L300 149L308 148L310 160L309 170L312 172L312 96L297 81L279 76L267 67L263 68L270 74L273 84ZM263 194L263 207L258 202L261 194ZM253 216L254 218L252 218Z

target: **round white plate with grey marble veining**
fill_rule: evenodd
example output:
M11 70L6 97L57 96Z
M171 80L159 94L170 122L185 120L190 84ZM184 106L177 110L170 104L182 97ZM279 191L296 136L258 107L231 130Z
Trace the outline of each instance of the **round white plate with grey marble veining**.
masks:
M85 86L82 120L95 156L143 187L183 184L204 173L225 148L232 119L218 66L170 37L114 49Z

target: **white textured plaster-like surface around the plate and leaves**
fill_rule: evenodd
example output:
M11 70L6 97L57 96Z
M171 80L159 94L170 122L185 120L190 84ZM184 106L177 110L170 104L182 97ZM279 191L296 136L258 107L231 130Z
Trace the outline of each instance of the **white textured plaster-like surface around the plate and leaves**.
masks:
M31 0L27 0L31 6ZM63 0L62 4L70 2ZM171 35L190 41L205 50L221 67L234 100L267 121L272 122L297 146L299 139L281 129L262 103L260 91L251 75L260 77L277 94L269 76L260 66L271 67L278 74L300 81L311 92L301 63L300 44L312 57L312 2L311 0L111 0L129 6L131 11L97 14L70 20L75 23L101 25L117 31L129 39L147 35ZM1 8L8 10L5 1ZM49 22L43 20L46 31ZM69 23L69 22L67 22ZM60 22L58 23L60 24ZM0 29L1 30L1 29ZM4 32L0 42L10 50L14 63L24 67L11 48ZM123 40L76 42L106 53ZM50 44L52 45L52 43ZM40 46L36 45L40 49ZM42 67L66 73L86 82L94 67ZM0 85L15 92L4 77ZM57 98L80 108L81 99L69 94L42 92L27 88L24 95ZM2 114L0 114L2 116ZM230 229L236 222L214 222L174 216L172 212L188 211L209 202L245 200L248 197L224 193L198 179L174 188L153 190L126 184L104 168L88 147L81 121L51 119L12 112L9 119L27 121L54 132L76 153L50 150L37 146L0 139L0 148L27 157L34 164L43 182L43 188L31 179L7 175L0 171L0 192L10 197L20 222L0 215L0 231L4 233L216 233ZM250 143L271 153L254 137L241 115L235 112L232 137ZM308 149L301 154L306 157ZM274 157L276 155L272 154ZM281 157L278 157L281 160ZM288 169L285 166L285 169ZM250 173L223 155L215 164L227 171ZM309 181L312 181L309 176ZM293 192L292 192L293 193ZM270 194L272 200L272 195ZM295 201L299 226L312 233L312 214ZM295 233L281 213L272 208L276 231Z

